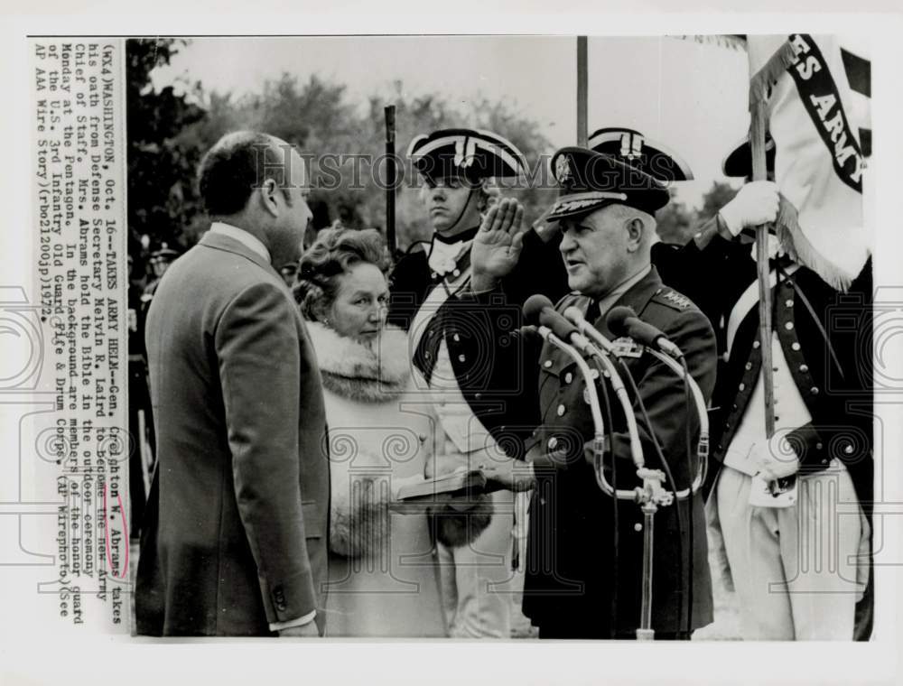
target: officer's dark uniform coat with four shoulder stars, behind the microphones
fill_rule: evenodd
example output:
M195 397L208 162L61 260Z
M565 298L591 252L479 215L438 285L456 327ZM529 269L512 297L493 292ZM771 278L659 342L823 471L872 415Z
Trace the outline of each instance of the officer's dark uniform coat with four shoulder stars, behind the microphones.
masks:
M557 308L563 311L573 304L585 310L588 299L567 296ZM709 321L692 302L663 286L653 268L616 304L632 307L682 348L690 373L705 397L711 395L715 383L714 335ZM605 326L604 313L593 324L613 338ZM641 600L641 511L635 503L619 501L616 514L615 503L602 493L584 459L584 443L593 436L593 423L576 363L548 344L538 359L542 423L535 432L535 442L545 458L535 461L537 483L530 506L524 612L540 627L541 635L549 629L547 635L561 637L632 637L639 625ZM694 408L685 405L684 384L647 354L625 360L677 488L688 487L693 475L686 453L686 429L689 425L695 450L699 421ZM632 391L628 393L634 403L646 465L661 468L637 398ZM616 487L632 488L641 482L630 459L623 413L614 394L610 395L613 440L606 456L608 478L614 479ZM615 474L611 473L612 464ZM667 483L665 487L673 490ZM678 507L684 519L683 559L678 554ZM681 501L662 507L655 521L653 628L658 633L677 635L709 624L712 586L703 498L696 496L692 503Z

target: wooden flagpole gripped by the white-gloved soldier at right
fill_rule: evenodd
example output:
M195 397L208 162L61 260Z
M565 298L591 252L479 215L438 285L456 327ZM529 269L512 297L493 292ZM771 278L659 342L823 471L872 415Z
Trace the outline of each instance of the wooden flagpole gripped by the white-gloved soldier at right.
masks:
M767 102L754 98L749 104L749 146L752 180L766 181L765 124ZM765 435L775 435L775 377L771 363L771 283L768 264L768 224L756 227L756 271L759 275L759 341L762 351L762 382L765 387Z

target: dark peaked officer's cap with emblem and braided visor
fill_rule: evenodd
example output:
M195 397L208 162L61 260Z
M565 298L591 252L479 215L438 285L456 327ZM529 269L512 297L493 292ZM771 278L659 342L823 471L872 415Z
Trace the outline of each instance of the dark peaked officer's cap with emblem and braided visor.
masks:
M615 203L654 214L670 199L662 181L587 148L562 148L554 153L551 165L559 191L546 221L577 217Z

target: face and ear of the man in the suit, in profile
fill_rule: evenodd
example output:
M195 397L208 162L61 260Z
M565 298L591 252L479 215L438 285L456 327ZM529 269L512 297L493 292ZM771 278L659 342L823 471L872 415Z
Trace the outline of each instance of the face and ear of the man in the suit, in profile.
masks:
M284 148L280 154L286 154ZM281 189L274 188L270 195L276 209L270 246L274 264L298 261L301 257L304 229L313 217L307 206L311 189L301 155L292 149L283 159L287 160L286 185Z

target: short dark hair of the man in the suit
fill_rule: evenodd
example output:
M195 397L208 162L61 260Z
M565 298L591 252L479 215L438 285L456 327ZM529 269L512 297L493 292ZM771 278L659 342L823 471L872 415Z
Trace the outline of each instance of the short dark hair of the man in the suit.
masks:
M273 179L286 199L287 145L280 155L278 139L256 131L236 131L217 141L200 162L198 181L204 208L212 216L228 216L245 208L251 192Z

